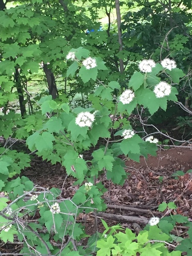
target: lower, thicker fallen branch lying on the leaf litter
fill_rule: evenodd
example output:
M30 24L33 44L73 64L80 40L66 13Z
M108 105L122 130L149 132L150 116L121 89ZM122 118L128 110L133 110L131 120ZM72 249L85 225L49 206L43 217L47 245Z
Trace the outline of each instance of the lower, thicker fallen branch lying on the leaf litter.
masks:
M135 217L135 216L124 216L124 215L115 215L115 214L104 214L103 212L98 212L97 216L103 217L110 220L116 220L121 222L136 222L143 225L148 223L148 219L145 217Z

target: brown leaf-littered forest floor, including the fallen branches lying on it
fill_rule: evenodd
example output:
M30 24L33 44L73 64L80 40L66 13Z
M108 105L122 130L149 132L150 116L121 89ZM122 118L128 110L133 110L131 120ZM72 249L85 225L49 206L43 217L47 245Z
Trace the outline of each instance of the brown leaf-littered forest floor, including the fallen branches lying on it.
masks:
M120 223L123 227L129 227L138 232L145 226L143 222L146 220L153 216L161 218L166 215L166 211L157 211L158 205L164 201L175 202L178 206L172 214L187 216L192 221L192 174L186 173L192 169L191 156L190 148L175 147L160 150L157 157L149 156L147 160L141 158L140 163L127 160L126 172L129 176L123 186L115 185L107 181L105 176L102 177L103 184L108 189L104 194L108 208L104 213L105 216L102 216L102 213L98 216L104 217L109 226ZM179 170L184 173L183 176L175 175L174 177L173 175ZM27 168L22 175L42 187L62 188L63 198L72 198L78 189L78 185L73 185L75 179L66 177L63 167L41 161L40 158L35 158L31 167ZM130 217L132 219L138 217L138 219L129 221ZM88 234L92 234L95 229L94 219L93 214L81 214L77 218L85 225ZM179 226L177 232L183 233L185 229L186 227ZM103 230L98 217L96 231L103 232Z

